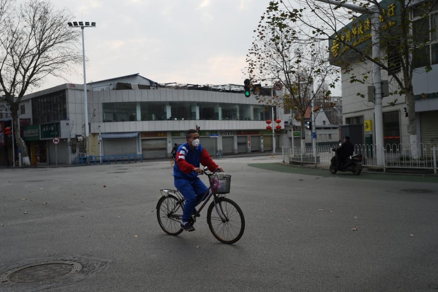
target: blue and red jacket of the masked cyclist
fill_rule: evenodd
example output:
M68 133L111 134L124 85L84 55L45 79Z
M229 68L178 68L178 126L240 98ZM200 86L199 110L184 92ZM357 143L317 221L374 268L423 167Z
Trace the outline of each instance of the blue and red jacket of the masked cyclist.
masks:
M178 147L173 176L188 180L196 179L198 173L194 169L200 167L200 164L207 166L210 171L219 167L201 144L192 150L187 143L184 143Z

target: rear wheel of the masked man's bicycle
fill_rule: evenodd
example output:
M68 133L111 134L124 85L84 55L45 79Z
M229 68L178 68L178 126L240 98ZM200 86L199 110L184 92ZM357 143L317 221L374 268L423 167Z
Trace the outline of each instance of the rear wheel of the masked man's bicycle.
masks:
M172 217L174 213L183 214L183 204L172 195L161 197L157 203L158 224L169 235L179 235L183 232L180 220Z

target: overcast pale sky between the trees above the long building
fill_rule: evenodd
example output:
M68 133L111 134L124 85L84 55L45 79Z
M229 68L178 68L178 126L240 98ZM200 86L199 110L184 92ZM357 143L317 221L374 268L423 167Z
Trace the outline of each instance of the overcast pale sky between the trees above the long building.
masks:
M159 83L243 84L254 30L269 0L51 0L85 28L87 82L140 73ZM67 25L67 23L66 23ZM77 44L82 50L81 41ZM82 66L67 81L83 83Z

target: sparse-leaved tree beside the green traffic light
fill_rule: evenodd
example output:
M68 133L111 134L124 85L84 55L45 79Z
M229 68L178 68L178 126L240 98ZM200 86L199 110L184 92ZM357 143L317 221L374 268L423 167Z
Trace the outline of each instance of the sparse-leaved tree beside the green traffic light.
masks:
M300 28L288 18L279 18L268 10L255 30L253 46L246 58L253 84L264 86L279 80L283 84L281 96L256 94L260 102L292 110L301 123L301 149L305 146L306 112L317 96L328 98L339 78L339 70L327 62L328 42L300 38ZM316 110L316 109L313 109ZM314 126L313 126L314 127Z

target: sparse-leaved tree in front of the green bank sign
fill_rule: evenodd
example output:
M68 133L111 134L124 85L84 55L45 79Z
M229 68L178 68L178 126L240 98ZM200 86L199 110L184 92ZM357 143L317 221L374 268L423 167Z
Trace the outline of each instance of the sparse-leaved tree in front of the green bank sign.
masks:
M415 98L412 84L413 74L422 63L421 71L428 72L430 55L427 44L435 28L429 27L429 12L436 9L436 0L351 0L351 4L363 8L362 15L344 8L347 1L329 5L320 0L272 1L268 11L274 12L278 23L294 21L307 30L301 36L308 41L329 40L331 61L348 74L350 82L369 83L371 70L369 64L377 64L393 80L397 87L390 92L395 105L404 95L408 113L408 132L412 157L418 158L417 127L415 123ZM418 5L418 3L421 3ZM379 23L373 24L372 11L379 14ZM411 13L416 16L415 21ZM372 25L386 54L375 57L371 54ZM309 33L310 32L310 33ZM423 59L422 59L423 58ZM353 66L364 66L365 73L357 74ZM416 69L417 68L417 69ZM358 96L365 97L361 92Z

